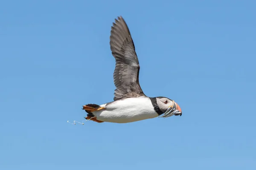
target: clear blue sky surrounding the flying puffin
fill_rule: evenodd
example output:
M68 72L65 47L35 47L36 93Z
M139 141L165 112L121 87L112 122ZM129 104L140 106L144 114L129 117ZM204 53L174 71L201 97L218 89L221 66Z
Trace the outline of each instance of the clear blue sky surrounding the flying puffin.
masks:
M255 170L256 2L0 2L1 170ZM113 100L122 15L147 96L182 116L84 122Z

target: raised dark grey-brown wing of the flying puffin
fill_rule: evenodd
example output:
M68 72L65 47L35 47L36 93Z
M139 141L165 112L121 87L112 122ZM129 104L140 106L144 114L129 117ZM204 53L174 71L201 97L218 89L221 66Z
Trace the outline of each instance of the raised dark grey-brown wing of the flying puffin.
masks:
M134 42L122 17L118 17L116 23L113 23L111 27L110 48L116 59L116 68L113 74L116 86L114 100L145 96L140 88L140 65Z

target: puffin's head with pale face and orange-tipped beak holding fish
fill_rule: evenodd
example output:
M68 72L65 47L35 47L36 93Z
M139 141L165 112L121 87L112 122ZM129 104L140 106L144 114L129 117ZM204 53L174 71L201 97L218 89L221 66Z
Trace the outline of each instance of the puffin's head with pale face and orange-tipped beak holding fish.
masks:
M168 99L167 97L156 97L156 99L160 111L164 113L163 116L160 117L182 115L180 106L174 100Z

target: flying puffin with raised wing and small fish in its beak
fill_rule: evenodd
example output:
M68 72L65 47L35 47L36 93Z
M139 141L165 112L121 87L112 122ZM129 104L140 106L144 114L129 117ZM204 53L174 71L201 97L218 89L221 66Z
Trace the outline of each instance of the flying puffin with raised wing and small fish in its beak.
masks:
M148 97L143 93L139 83L139 60L122 16L117 17L111 26L110 49L116 60L113 101L102 105L83 105L82 109L87 112L85 119L98 123L130 123L182 115L180 106L174 100L163 96Z

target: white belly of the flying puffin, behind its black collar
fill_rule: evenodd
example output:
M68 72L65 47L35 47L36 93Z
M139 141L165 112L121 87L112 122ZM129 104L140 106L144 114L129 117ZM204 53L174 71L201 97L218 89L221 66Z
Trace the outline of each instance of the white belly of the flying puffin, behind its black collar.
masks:
M105 105L101 105L104 107ZM148 97L118 100L100 111L94 111L96 119L104 122L128 123L158 116Z

